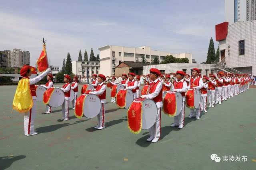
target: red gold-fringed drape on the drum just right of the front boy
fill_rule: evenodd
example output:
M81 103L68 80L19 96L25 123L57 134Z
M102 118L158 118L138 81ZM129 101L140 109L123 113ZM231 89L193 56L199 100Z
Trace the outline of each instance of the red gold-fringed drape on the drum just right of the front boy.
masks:
M175 93L167 92L164 96L163 104L164 104L163 106L164 113L170 117L174 117L177 113L177 103L176 103Z

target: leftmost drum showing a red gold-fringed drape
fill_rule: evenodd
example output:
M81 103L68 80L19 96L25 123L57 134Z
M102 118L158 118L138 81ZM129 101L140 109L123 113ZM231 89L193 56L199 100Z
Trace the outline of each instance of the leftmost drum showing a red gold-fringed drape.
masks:
M60 88L47 89L43 95L43 101L50 107L59 107L64 103L65 95Z

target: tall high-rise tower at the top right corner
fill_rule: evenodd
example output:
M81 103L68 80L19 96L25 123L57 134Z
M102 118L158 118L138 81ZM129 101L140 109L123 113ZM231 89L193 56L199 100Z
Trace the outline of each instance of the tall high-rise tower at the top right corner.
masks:
M256 0L225 0L226 22L256 20Z

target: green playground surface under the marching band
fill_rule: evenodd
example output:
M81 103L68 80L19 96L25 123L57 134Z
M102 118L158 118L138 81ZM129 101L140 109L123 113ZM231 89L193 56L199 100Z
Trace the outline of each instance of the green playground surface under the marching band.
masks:
M96 117L77 119L70 110L70 120L62 122L61 107L45 115L45 105L37 102L38 135L24 136L23 114L12 111L15 91L16 86L0 86L0 170L256 169L256 88L209 108L200 120L188 119L186 108L183 129L171 128L173 118L162 112L157 143L146 142L148 130L130 132L127 110L110 103L109 89L103 130L94 129Z

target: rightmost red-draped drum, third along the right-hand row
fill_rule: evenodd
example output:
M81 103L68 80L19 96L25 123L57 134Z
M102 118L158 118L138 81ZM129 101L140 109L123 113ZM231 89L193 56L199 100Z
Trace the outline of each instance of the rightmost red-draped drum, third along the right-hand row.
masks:
M200 105L201 93L198 89L188 89L186 91L186 106L190 109L198 109Z

